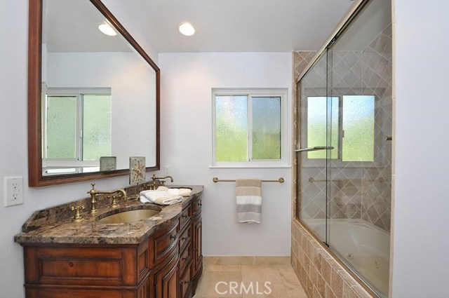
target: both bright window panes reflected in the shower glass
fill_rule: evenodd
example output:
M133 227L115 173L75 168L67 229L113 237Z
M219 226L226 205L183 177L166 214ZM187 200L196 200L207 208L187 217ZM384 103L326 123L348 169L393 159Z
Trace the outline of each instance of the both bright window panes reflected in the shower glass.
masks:
M330 158L344 162L374 161L374 95L307 97L307 147L326 146L326 126L334 147ZM310 151L307 158L324 159L326 153Z

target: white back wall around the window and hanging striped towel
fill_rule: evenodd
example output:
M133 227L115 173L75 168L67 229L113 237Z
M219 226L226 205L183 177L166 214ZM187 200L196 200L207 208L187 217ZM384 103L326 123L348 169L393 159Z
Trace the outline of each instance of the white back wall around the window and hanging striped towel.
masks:
M204 255L290 255L290 168L211 169L211 88L289 88L291 53L159 54L161 67L161 166L176 183L202 184ZM262 184L262 224L236 222L235 183L213 177L258 177L286 183Z

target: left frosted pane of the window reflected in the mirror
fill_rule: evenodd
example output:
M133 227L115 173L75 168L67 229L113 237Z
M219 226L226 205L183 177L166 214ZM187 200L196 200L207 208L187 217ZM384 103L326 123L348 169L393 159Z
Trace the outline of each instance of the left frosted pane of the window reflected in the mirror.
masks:
M76 96L48 96L46 158L76 158Z

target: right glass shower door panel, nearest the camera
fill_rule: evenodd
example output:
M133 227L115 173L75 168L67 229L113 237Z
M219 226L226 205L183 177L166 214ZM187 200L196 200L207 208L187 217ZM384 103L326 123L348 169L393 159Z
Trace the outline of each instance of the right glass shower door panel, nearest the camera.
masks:
M326 241L381 297L389 283L391 18L384 12L390 8L389 1L370 1L327 50L338 151L328 164ZM375 25L373 15L382 15Z

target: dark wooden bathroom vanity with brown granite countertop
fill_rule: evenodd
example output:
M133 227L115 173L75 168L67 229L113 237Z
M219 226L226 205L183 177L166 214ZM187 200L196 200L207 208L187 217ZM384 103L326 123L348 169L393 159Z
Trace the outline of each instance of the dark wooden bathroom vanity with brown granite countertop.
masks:
M88 205L88 199L34 212L15 236L24 249L26 297L193 297L203 266L203 187L191 188L182 203L121 201L117 208L104 203L94 214L83 212L80 222L70 208ZM160 212L137 222L98 222L140 209Z

